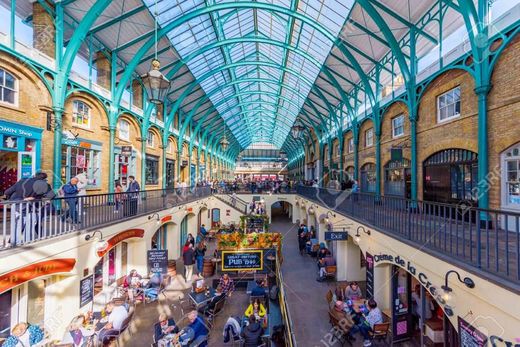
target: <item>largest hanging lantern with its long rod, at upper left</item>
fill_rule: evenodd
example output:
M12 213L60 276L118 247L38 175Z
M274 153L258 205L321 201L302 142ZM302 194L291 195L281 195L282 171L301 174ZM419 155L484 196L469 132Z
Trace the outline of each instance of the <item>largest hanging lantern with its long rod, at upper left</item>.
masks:
M170 90L170 80L168 80L164 75L161 73L161 63L159 62L159 59L157 57L157 44L158 44L158 37L157 37L157 0L155 1L155 13L154 13L154 19L155 19L155 57L152 60L152 69L144 74L141 75L141 79L144 84L144 88L146 90L146 94L148 95L148 101L150 101L153 104L161 104L164 101L164 98L166 97L166 94Z

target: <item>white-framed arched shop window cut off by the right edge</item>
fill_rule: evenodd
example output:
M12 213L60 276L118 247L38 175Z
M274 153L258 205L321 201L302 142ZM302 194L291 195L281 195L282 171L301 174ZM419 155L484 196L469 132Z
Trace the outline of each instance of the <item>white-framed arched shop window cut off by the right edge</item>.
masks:
M502 156L502 191L505 193L504 205L520 210L520 145L505 151Z

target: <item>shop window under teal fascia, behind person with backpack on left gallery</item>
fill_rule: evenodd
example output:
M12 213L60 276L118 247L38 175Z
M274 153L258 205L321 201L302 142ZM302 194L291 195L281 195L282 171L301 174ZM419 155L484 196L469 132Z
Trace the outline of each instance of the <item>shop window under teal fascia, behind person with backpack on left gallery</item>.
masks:
M88 144L86 144L88 145ZM89 188L98 188L101 183L101 151L69 145L62 145L62 180L86 174Z

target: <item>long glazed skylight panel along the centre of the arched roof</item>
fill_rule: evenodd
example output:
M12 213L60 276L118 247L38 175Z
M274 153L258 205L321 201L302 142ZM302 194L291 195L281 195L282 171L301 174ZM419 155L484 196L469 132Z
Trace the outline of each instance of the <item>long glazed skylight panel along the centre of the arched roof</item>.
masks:
M234 1L144 2L162 27L191 11ZM293 8L337 36L354 0L259 2ZM332 47L331 40L299 19L252 8L197 16L168 38L242 148L257 142L283 145ZM235 42L218 44L226 40ZM213 46L197 52L208 45Z

